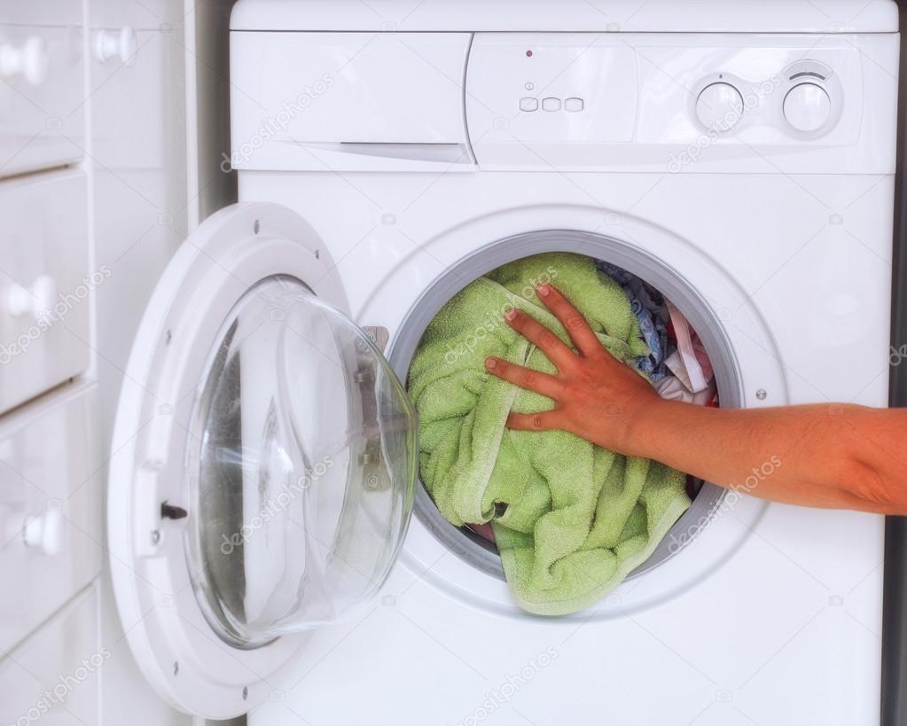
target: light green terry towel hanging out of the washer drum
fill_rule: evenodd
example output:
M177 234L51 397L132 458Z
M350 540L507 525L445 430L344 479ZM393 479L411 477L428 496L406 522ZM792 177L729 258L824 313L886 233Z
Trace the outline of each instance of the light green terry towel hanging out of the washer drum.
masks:
M444 518L492 522L517 603L566 615L599 600L642 563L688 508L685 477L566 431L511 431L510 411L552 402L485 371L494 355L554 373L539 349L505 324L518 308L570 338L535 295L551 282L605 347L630 363L649 353L629 300L588 257L527 257L480 277L434 317L409 371L419 412L420 470Z

